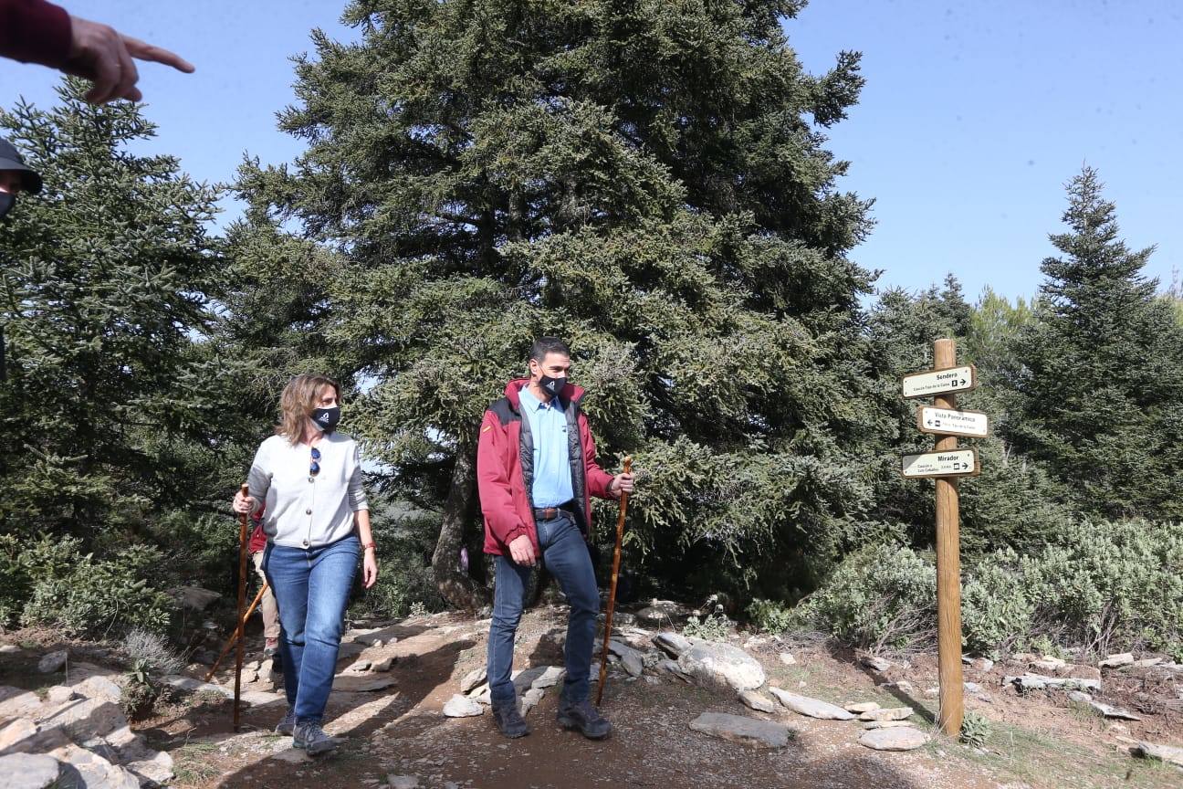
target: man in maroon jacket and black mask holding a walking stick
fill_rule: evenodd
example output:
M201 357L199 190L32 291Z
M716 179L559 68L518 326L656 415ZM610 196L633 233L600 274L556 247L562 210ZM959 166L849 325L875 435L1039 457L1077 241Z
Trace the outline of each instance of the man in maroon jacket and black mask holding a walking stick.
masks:
M561 339L539 338L530 350L530 377L510 381L480 423L477 481L485 552L497 557L487 673L493 720L506 737L530 732L510 675L525 589L539 561L570 606L558 723L592 739L612 731L589 700L600 593L587 539L592 497L631 492L633 476L613 477L596 465L595 441L580 410L583 389L568 381L570 356Z

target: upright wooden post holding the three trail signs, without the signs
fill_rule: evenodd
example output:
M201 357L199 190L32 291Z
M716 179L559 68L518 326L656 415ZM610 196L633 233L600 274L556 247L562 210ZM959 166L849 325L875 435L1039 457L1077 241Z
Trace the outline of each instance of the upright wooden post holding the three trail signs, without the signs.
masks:
M952 339L932 344L933 369L957 366L957 345ZM937 408L957 408L957 395L939 395ZM957 448L956 435L937 439L937 452ZM940 710L937 725L950 737L961 735L965 712L961 662L961 548L957 478L937 478L937 658L940 678Z

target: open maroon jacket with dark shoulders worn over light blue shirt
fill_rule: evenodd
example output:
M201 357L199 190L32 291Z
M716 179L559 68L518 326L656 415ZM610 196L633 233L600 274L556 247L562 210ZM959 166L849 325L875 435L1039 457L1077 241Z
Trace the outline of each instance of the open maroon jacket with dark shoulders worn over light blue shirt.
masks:
M530 383L516 379L505 384L505 396L485 412L477 444L477 486L480 491L480 511L485 513L485 552L509 554L509 544L521 535L529 535L534 550L538 550L538 531L534 522L534 436L530 420L522 418L518 393ZM583 389L568 383L558 393L560 405L567 414L567 439L570 448L571 490L583 506L575 511L580 530L590 538L592 497L612 498L608 486L613 476L596 465L595 441L588 420L580 410Z

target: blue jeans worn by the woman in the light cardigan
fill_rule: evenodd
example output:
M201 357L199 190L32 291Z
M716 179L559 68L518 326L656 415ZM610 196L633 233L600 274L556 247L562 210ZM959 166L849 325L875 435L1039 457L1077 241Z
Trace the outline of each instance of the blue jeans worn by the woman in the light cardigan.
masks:
M356 535L309 549L267 543L263 571L279 603L284 690L297 723L324 719L361 552Z

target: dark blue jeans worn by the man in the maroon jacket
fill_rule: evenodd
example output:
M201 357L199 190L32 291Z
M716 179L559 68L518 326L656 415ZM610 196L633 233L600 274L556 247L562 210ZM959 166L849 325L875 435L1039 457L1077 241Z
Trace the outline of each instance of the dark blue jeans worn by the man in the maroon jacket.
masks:
M592 557L575 520L560 512L552 520L538 522L538 544L547 570L558 581L567 595L571 612L567 621L567 644L563 660L567 677L563 698L582 701L588 698L592 673L592 648L595 645L596 614L600 613L600 593L595 586ZM489 626L489 691L493 704L515 699L513 635L522 620L523 596L530 581L529 567L519 567L509 556L497 557L497 586L493 593L493 620Z

